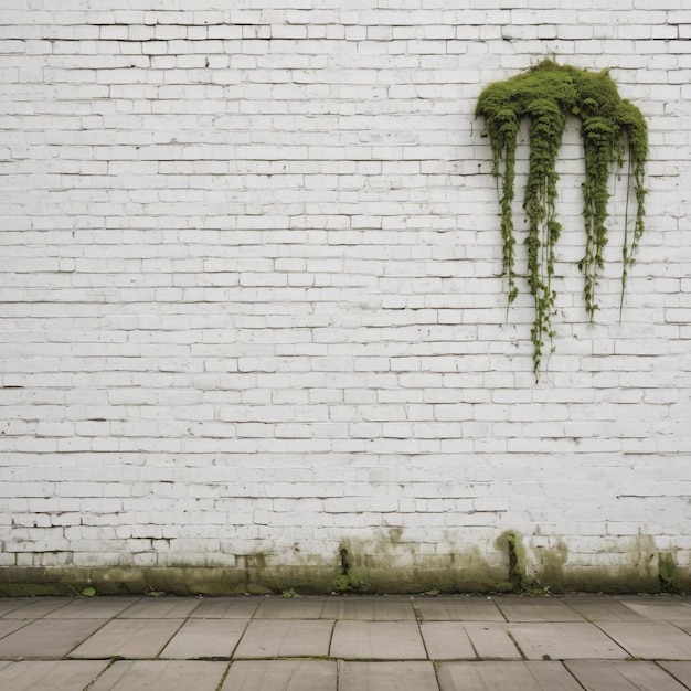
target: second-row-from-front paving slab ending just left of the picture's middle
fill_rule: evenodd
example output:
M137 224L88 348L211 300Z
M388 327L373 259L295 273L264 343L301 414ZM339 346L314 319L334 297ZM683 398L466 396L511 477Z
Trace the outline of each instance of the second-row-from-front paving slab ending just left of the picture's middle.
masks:
M254 619L245 630L235 659L326 657L333 621L325 619Z

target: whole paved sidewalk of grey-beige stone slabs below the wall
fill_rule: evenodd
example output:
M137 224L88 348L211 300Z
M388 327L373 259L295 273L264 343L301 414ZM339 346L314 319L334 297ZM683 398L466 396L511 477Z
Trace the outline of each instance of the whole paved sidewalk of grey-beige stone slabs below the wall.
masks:
M0 599L7 691L681 691L691 597Z

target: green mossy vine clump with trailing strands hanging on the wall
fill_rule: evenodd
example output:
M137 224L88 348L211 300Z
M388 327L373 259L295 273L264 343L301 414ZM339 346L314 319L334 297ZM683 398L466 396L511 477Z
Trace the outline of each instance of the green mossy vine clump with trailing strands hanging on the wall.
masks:
M477 116L485 118L492 150L492 174L500 184L502 275L508 279L509 305L518 295L515 234L512 204L515 195L515 150L521 120L530 120L530 158L523 208L528 215L528 285L534 298L531 331L535 375L554 331L555 245L561 225L556 217L556 157L570 115L581 119L585 157L583 217L585 254L578 266L584 275L585 308L591 321L597 309L595 288L604 268L607 244L607 188L613 164L621 167L628 142L629 176L636 198L636 219L629 233L625 220L621 301L640 236L644 233L645 163L648 132L640 110L623 100L607 71L592 73L544 60L506 82L490 84L480 94ZM628 212L628 209L627 209ZM628 213L627 213L628 215Z

